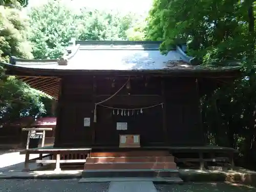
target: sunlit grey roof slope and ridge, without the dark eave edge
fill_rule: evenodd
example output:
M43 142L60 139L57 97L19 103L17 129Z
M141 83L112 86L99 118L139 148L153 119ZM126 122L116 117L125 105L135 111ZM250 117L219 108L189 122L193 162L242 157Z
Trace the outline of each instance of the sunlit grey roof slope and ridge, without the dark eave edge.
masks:
M58 59L29 60L12 57L17 67L55 70L174 70L191 69L190 59L180 47L167 54L159 51L159 41L76 41L59 65ZM60 59L61 60L61 59Z

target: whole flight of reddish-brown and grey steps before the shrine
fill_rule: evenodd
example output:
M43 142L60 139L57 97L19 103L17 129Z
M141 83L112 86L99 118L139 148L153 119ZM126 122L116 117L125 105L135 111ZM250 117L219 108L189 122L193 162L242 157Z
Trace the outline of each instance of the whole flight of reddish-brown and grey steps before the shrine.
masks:
M168 151L93 152L84 164L82 178L84 182L183 182L174 157Z

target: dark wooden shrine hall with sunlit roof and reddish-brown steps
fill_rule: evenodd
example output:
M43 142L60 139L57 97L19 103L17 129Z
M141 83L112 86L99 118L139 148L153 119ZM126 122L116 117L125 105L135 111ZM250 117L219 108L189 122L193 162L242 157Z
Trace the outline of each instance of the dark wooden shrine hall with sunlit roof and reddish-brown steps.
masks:
M4 65L58 101L54 147L90 148L85 170L152 169L155 161L155 169L176 169L172 149L206 150L200 97L238 77L240 68L202 67L184 45L161 54L160 44L72 41L59 59L11 57ZM114 167L123 156L133 164ZM112 157L104 167L97 164L102 157Z

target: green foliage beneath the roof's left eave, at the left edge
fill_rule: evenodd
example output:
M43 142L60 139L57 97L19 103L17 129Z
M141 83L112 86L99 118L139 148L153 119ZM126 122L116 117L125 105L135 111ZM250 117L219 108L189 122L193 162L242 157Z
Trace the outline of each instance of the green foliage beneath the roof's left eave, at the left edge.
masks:
M22 116L36 117L46 112L42 100L49 98L47 95L31 89L14 76L3 74L0 81L0 124Z

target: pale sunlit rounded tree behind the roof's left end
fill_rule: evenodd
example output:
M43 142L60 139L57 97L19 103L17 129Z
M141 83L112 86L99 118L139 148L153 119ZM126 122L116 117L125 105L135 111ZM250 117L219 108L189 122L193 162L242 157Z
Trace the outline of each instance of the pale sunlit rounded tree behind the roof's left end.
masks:
M32 7L29 11L28 39L36 59L58 58L72 37L78 36L78 19L61 1Z

